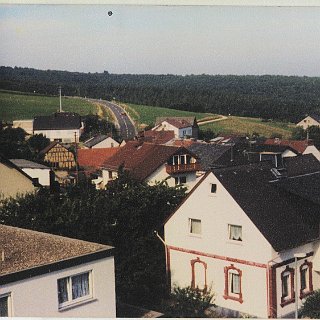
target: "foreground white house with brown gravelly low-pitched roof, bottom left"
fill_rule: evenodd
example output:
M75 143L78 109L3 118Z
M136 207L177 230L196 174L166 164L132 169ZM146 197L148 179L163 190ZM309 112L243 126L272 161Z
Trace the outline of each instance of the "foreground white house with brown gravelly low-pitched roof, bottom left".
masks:
M4 317L115 318L112 247L0 225Z

